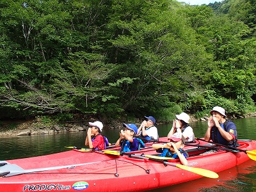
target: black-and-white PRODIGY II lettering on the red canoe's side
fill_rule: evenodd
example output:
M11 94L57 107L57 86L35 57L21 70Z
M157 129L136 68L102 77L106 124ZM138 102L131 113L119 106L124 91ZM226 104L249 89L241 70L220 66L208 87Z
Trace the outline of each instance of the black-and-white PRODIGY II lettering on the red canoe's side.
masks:
M70 189L71 186L63 186L61 184L36 184L23 187L23 191L65 191Z

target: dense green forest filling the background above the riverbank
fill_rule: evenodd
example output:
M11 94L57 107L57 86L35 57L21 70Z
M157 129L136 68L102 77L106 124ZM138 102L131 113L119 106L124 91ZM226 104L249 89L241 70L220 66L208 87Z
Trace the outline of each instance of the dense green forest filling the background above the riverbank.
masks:
M1 0L0 20L0 120L256 111L255 0Z

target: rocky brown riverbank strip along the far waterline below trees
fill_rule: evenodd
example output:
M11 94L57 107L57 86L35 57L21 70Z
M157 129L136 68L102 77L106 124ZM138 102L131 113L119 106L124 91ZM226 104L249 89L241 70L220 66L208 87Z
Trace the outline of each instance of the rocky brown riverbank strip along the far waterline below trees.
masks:
M248 113L246 117L256 117L255 113ZM206 121L207 116L204 118L196 119L191 115L191 122L195 121ZM94 122L96 119L90 117L83 120L74 120L68 122L60 122L54 124L52 122L44 122L42 119L33 119L33 120L8 120L2 121L0 124L0 137L10 137L10 136L28 136L35 134L58 134L61 132L79 132L86 131L88 129L88 122ZM107 120L102 121L104 128L106 129L120 129L125 120ZM166 123L166 122L164 122ZM134 124L140 125L141 120L134 120ZM161 123L159 123L161 124Z

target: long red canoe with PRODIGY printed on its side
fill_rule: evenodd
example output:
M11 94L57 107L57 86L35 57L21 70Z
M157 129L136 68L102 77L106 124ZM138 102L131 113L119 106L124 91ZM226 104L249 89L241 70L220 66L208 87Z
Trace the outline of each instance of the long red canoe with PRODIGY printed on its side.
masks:
M166 138L160 138L166 141ZM242 150L255 150L256 141L239 141ZM156 154L147 143L146 148L131 152L135 156ZM200 141L200 146L209 145ZM222 172L250 159L245 152L221 151L199 155L204 148L188 149L188 167L204 172ZM111 150L118 150L113 148ZM115 154L115 153L114 153ZM228 159L228 161L227 161ZM159 161L159 162L158 162ZM172 165L179 160L168 160ZM161 160L117 156L100 151L70 150L47 156L0 161L0 191L146 191L179 184L202 175L168 166ZM207 176L206 176L207 177Z

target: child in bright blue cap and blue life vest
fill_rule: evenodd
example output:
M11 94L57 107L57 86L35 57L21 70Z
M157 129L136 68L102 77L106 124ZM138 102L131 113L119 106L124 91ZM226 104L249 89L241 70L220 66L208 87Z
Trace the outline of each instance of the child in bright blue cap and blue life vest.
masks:
M120 131L120 138L116 141L115 146L121 146L121 152L129 152L134 150L140 150L141 147L145 147L144 143L135 138L138 128L134 124L123 124L125 130Z

